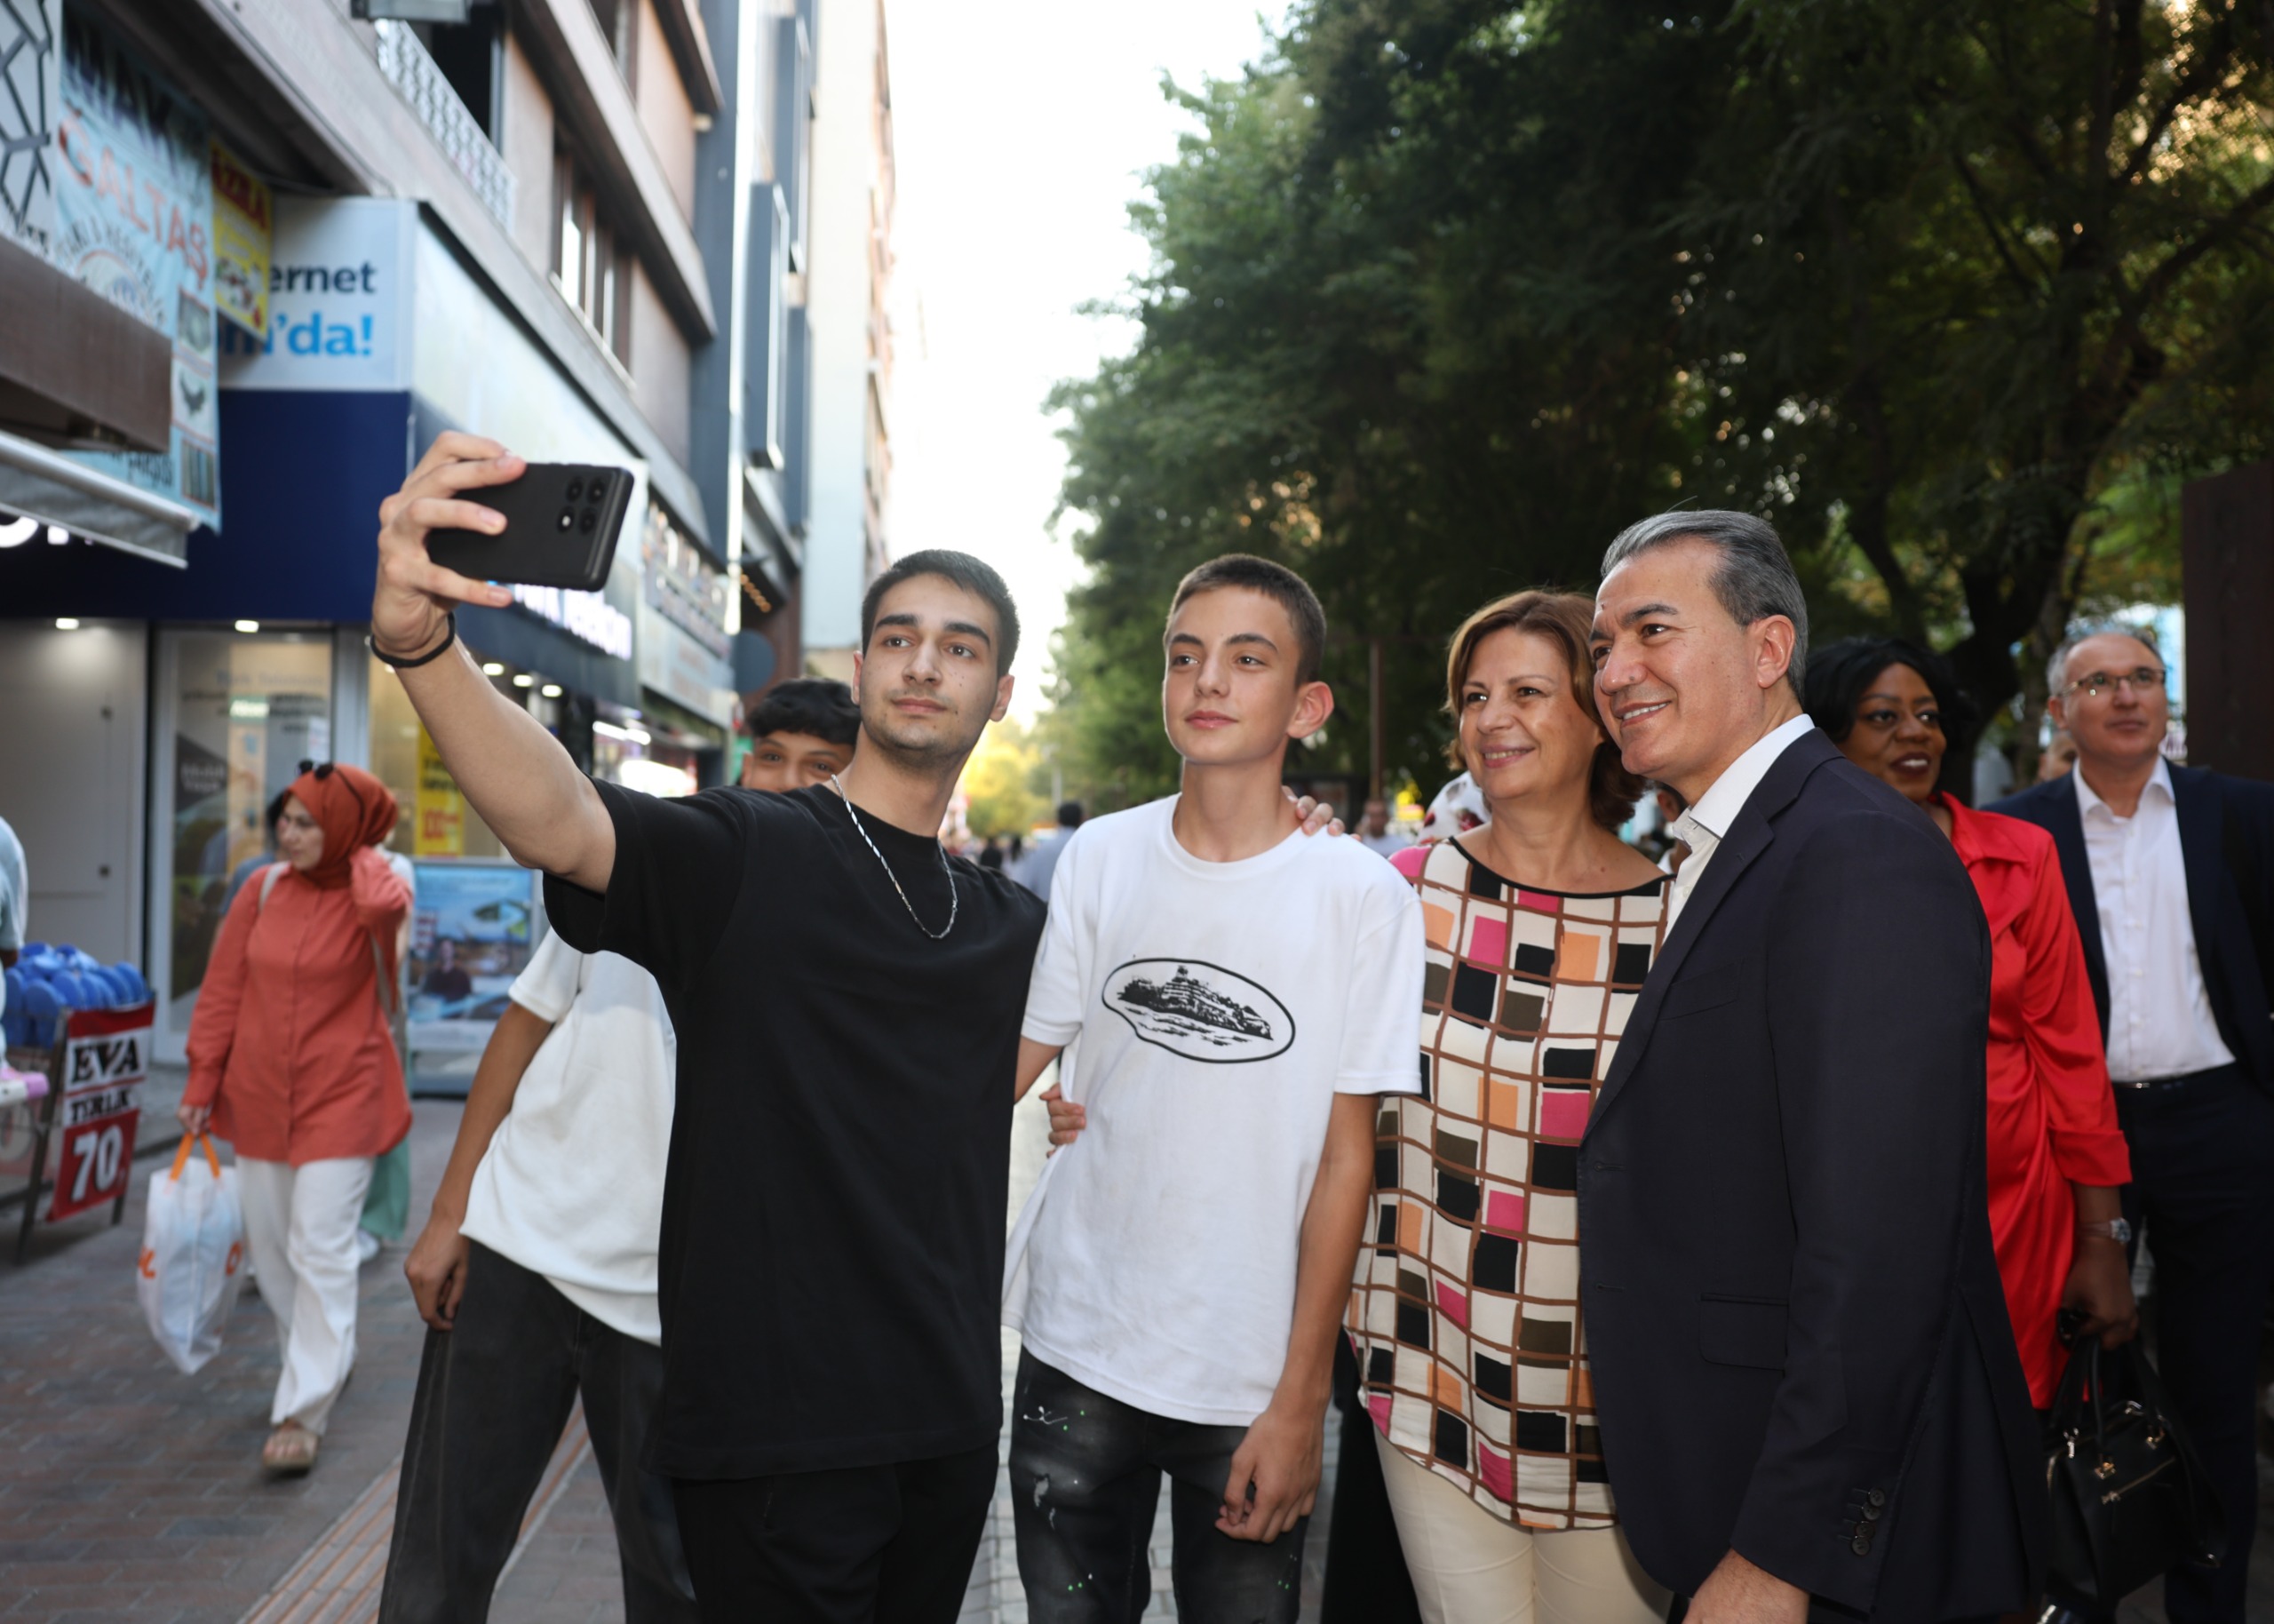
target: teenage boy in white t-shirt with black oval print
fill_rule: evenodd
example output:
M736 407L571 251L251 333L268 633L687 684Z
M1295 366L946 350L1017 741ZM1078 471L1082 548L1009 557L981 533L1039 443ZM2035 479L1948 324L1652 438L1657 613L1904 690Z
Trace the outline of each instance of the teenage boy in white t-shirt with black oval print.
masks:
M1326 616L1219 557L1176 591L1162 719L1182 789L1067 844L1021 1092L1087 1110L1012 1235L1026 1347L1010 1476L1035 1624L1130 1619L1171 1478L1178 1615L1296 1617L1378 1094L1419 1092L1421 912L1351 839L1305 839L1292 739L1333 712Z

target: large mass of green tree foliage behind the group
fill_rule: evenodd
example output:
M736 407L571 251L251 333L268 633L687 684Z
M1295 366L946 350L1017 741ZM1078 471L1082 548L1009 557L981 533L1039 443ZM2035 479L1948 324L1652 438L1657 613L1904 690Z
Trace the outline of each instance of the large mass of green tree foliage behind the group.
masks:
M1685 11L1314 0L1178 93L1139 343L1053 400L1076 782L1167 787L1160 612L1230 548L1326 598L1321 764L1367 764L1380 639L1424 787L1458 619L1676 503L1769 514L1824 632L1951 646L1990 707L2169 582L2176 478L2274 437L2274 5Z

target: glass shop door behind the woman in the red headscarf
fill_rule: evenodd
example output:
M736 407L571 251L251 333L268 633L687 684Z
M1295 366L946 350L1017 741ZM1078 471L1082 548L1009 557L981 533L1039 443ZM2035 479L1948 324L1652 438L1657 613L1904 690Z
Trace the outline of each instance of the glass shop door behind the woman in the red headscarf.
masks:
M180 628L157 653L150 985L157 1053L180 1062L221 919L273 860L268 803L332 760L334 637Z

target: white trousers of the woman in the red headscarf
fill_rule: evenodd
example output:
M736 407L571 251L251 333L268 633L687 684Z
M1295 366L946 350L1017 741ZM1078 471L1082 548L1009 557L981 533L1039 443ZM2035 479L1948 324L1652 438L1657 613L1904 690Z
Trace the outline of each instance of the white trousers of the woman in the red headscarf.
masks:
M371 1165L368 1155L300 1167L236 1158L246 1251L284 1353L271 1426L300 1422L323 1435L355 1369L355 1221L364 1215Z

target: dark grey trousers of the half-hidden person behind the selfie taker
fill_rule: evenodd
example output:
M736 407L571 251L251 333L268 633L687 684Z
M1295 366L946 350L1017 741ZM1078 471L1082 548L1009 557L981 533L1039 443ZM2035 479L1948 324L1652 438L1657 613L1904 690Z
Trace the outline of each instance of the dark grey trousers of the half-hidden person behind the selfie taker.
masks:
M402 1444L380 1624L480 1624L546 1463L584 1397L616 1515L628 1624L694 1624L669 1478L641 1467L664 1356L480 1242L450 1331L428 1331Z

